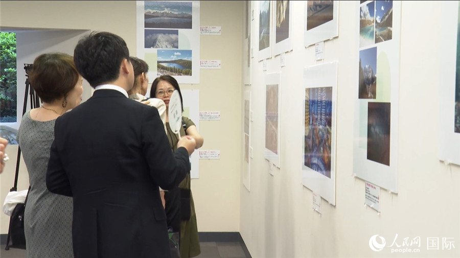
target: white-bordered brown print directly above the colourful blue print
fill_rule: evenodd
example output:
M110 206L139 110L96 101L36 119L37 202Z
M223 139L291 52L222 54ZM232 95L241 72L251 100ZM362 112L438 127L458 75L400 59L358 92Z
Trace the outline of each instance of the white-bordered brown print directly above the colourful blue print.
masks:
M339 1L304 1L304 45L308 46L338 36Z

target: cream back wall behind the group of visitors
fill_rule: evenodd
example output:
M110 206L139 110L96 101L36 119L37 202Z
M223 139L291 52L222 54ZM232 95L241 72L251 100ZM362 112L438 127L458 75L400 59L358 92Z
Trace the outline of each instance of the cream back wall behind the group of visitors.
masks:
M219 121L195 121L200 123L200 134L204 137L201 149L220 150L221 154L218 160L199 160L199 179L192 180L200 232L239 231L240 143L235 139L240 137L242 10L240 1L200 2L200 25L222 28L221 35L200 35L200 58L221 60L222 67L201 69L199 84L180 84L181 89L199 90L200 111L221 113ZM21 57L17 62L19 91L23 92L25 87L24 63L32 63L33 56L47 51L72 54L87 30L121 36L130 55L135 56L135 18L135 1L1 1L0 28L21 31L17 34L17 55ZM149 79L152 82L155 78ZM84 95L88 93L89 98L91 90L86 89ZM18 98L18 103L23 101ZM6 153L10 161L0 175L2 203L13 186L17 145L8 146ZM26 190L28 186L21 158L18 190ZM9 217L0 214L0 234L8 233L8 223Z

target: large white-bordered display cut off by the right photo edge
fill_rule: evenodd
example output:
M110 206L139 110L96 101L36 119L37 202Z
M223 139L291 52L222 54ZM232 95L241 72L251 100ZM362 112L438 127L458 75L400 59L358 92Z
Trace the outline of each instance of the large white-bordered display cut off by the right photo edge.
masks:
M442 2L439 159L460 166L460 6Z

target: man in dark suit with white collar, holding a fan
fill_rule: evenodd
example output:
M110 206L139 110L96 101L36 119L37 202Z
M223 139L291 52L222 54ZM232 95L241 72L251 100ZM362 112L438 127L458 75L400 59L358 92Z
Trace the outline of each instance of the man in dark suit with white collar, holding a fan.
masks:
M74 51L93 97L55 123L47 187L73 196L77 258L170 257L158 186L177 187L196 142L171 152L154 107L128 99L134 76L125 41L93 32Z

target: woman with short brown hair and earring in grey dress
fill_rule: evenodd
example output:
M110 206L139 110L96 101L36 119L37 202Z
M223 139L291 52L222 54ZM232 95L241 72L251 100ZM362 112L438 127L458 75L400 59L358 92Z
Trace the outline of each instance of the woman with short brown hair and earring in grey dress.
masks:
M49 192L46 174L55 121L80 104L83 78L72 56L64 53L39 55L29 77L43 104L22 116L17 134L31 186L24 214L26 254L37 258L74 257L73 200Z

